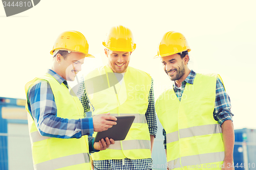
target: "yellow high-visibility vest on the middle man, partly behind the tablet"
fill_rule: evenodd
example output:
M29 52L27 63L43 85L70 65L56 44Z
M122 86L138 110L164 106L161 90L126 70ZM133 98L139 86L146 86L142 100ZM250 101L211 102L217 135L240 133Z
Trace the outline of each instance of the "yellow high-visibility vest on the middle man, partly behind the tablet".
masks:
M150 75L133 67L127 68L121 85L109 66L99 67L86 76L84 84L95 109L93 115L108 112L113 116L135 115L126 138L93 153L94 160L151 158L150 133L145 119L151 81Z

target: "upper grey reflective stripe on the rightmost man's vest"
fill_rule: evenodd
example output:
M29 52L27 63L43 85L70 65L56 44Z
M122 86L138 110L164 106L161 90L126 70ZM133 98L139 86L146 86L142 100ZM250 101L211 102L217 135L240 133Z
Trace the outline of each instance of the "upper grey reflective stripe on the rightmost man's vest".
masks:
M180 129L180 138L208 135L221 132L222 129L220 127L220 124L195 126L191 128ZM174 142L177 140L179 140L178 131L166 134L167 143Z

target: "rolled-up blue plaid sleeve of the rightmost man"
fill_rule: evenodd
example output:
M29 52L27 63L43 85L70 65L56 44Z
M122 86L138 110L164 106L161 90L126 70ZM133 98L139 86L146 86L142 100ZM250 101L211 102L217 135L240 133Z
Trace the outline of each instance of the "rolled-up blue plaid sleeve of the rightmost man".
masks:
M230 108L231 108L231 104L230 104L229 96L224 89L222 81L219 78L217 78L214 119L219 122L220 126L226 120L232 120L233 114L231 113Z

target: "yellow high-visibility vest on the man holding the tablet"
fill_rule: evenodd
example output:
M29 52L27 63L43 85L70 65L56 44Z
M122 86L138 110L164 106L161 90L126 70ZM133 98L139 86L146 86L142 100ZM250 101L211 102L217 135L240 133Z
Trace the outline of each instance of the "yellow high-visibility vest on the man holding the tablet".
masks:
M39 79L49 82L57 106L58 117L68 119L83 118L83 107L77 96L71 95L65 84L59 84L57 80L49 74L28 82L25 86L27 95L29 88L38 82L37 80ZM26 105L26 109L29 112L28 104ZM62 139L41 136L36 128L31 113L28 113L28 124L34 169L62 170L91 168L87 135L82 136L79 139Z

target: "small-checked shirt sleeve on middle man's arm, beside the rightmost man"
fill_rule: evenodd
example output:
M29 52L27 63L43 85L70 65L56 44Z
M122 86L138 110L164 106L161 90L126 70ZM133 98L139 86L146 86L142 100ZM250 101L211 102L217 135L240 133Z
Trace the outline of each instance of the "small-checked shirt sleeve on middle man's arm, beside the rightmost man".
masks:
M153 79L151 82L150 94L148 95L148 106L145 113L146 122L148 125L148 130L150 131L150 135L157 135L157 118L156 118L156 110L155 110L155 97L153 90Z

